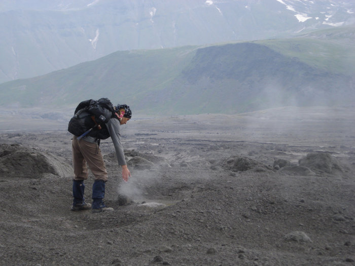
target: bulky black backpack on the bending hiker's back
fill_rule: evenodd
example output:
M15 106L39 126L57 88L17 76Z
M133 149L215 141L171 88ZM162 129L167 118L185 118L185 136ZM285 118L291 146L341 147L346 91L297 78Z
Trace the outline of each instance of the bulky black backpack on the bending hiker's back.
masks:
M69 121L68 131L75 136L87 133L97 139L107 139L110 133L105 123L111 118L117 118L114 113L114 106L108 98L82 101Z

